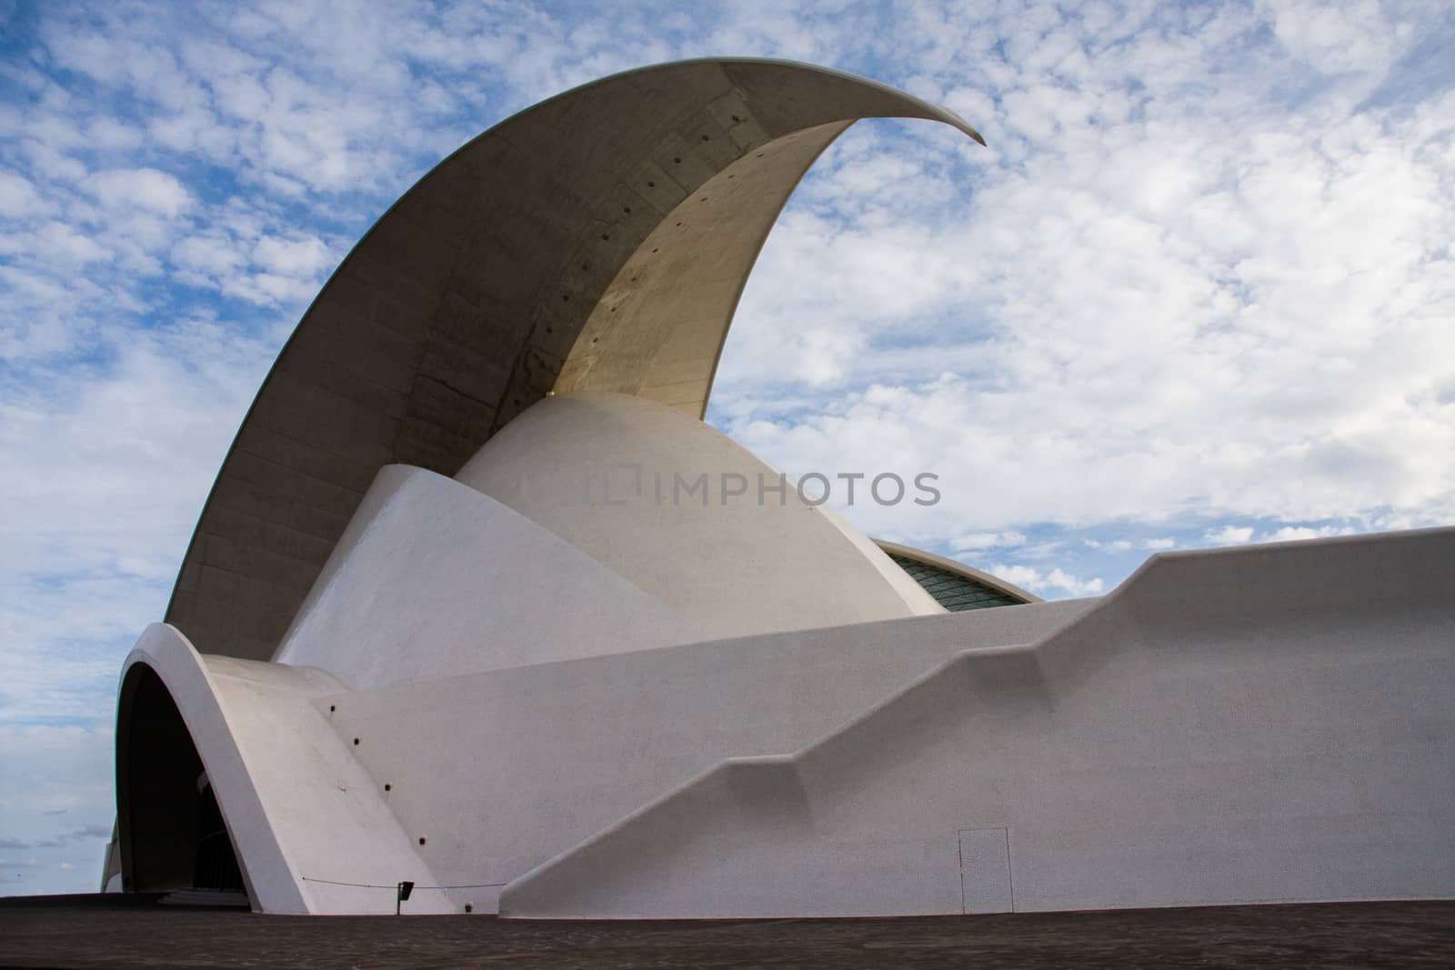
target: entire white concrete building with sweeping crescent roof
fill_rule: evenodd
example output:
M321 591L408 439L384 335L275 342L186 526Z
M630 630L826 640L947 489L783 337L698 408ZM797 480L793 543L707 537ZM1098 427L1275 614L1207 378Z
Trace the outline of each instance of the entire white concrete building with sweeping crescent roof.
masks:
M127 890L199 881L215 806L263 912L404 880L404 912L527 918L1455 896L1455 529L946 612L700 422L778 207L873 113L969 132L816 68L662 65L380 221L127 660Z

